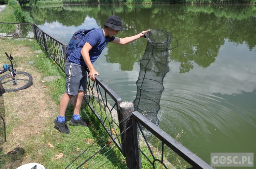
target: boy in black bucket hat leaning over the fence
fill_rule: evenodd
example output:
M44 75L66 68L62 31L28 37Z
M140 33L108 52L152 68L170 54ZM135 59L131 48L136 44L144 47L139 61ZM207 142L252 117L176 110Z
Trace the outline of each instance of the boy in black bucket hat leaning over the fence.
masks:
M90 71L88 77L94 81L95 75L99 75L99 73L94 69L93 63L100 56L108 42L127 44L144 37L144 34L150 31L143 31L125 38L115 37L114 35L117 35L119 31L124 31L122 19L115 15L110 16L103 25L102 29L88 32L65 63L66 91L60 100L59 115L54 119L55 126L63 133L70 133L65 121L65 112L73 96L75 96L74 113L70 124L87 126L87 123L80 118L80 108L86 94L86 67Z

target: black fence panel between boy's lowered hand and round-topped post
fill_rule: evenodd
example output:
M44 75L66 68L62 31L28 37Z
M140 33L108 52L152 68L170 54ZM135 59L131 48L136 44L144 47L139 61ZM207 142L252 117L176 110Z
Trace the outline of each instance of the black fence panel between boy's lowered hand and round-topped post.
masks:
M97 75L95 75L95 81L87 80L86 93L85 100L88 106L114 140L120 152L125 155L120 138L115 139L122 131L119 126L119 121L122 120L119 117L121 98Z

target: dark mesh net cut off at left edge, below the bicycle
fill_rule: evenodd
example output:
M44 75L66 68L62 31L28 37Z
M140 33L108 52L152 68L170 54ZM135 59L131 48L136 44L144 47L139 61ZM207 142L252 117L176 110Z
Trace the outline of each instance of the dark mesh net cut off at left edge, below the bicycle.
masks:
M2 84L0 82L0 145L6 142L5 112L2 95L3 93L5 93L5 90L3 89Z

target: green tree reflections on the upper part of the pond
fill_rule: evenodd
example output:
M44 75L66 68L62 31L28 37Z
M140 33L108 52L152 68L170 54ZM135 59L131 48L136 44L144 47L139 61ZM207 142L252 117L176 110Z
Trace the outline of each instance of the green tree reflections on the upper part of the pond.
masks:
M60 5L26 9L43 30L65 43L77 29L101 27L113 14L120 16L126 27L120 37L148 28L166 30L173 35L172 47L176 46L175 38L180 44L189 40L187 48L170 52L170 59L180 62L180 73L189 72L195 63L202 68L209 67L225 39L237 45L246 42L250 50L255 47L256 12L252 5ZM131 71L133 63L143 55L145 43L133 42L113 52L110 46L107 61L119 63L123 71Z

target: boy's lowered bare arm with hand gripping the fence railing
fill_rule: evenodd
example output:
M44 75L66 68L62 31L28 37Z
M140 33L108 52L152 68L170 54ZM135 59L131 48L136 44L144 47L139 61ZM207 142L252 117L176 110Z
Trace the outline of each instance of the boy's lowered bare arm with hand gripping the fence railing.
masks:
M85 43L82 50L81 50L81 54L83 56L83 59L84 59L84 62L87 66L87 68L89 69L89 74L88 74L88 77L95 81L95 77L94 75L98 75L99 76L99 73L94 69L93 67L93 64L91 63L91 60L90 60L90 55L89 55L89 51L93 48L92 45L90 45L90 43Z

